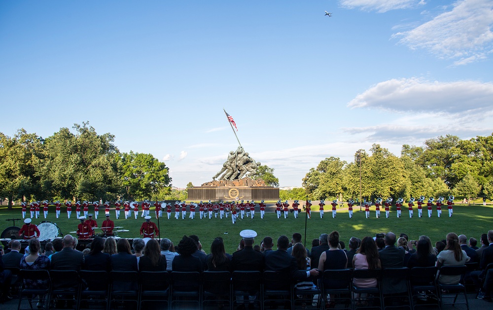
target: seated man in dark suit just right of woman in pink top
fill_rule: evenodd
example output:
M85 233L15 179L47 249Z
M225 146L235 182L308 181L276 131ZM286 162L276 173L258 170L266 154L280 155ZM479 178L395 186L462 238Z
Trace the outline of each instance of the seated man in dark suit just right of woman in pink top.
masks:
M388 232L384 240L385 248L378 252L382 269L404 267L405 251L403 248L395 246L395 234ZM407 290L405 282L401 280L383 279L382 283L384 294L401 293Z

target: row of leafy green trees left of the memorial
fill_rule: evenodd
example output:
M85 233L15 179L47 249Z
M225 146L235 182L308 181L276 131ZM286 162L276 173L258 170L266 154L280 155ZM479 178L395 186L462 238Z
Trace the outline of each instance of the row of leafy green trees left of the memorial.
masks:
M89 122L48 138L0 133L0 197L16 200L175 199L168 167L151 154L122 153ZM176 197L177 198L177 197ZM181 197L180 197L181 198Z

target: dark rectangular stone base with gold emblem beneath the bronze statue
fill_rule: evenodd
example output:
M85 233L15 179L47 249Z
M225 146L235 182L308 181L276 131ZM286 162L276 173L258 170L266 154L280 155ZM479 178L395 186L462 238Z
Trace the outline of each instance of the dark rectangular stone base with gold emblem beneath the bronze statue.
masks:
M200 186L188 189L187 201L278 200L279 188L270 186Z

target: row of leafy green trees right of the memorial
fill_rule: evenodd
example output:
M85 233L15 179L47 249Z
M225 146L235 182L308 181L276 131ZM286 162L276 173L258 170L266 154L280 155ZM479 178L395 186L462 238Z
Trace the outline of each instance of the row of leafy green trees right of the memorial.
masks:
M400 157L379 144L359 149L351 163L322 160L303 178L303 188L281 191L281 199L339 199L449 195L493 197L493 134L461 140L447 135L423 146L404 144Z

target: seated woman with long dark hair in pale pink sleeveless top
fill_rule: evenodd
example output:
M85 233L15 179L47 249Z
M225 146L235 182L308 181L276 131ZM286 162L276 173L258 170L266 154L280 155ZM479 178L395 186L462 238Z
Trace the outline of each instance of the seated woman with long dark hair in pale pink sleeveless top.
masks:
M373 238L365 237L361 241L356 255L352 258L352 266L354 269L380 269L382 265L380 264L379 252L377 250L377 245ZM377 279L361 279L353 278L352 282L358 287L375 287L377 286Z

